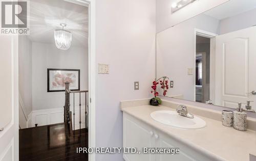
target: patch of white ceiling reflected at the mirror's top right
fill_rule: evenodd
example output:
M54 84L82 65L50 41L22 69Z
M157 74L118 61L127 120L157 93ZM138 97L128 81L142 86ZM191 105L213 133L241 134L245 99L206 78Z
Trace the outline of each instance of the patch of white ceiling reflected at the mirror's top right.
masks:
M230 0L223 5L206 11L204 14L221 20L255 8L256 0Z

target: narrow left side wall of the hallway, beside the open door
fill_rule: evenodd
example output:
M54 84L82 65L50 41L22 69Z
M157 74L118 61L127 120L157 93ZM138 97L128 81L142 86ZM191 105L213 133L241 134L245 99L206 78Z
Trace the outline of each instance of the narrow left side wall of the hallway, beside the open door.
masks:
M28 117L32 111L32 44L27 36L19 36L18 67L19 97L23 101L24 113Z

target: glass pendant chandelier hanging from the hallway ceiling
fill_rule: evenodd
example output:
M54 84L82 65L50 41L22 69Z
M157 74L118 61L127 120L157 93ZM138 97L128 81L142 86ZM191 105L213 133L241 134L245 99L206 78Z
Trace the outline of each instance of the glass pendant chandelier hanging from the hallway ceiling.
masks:
M67 26L66 23L60 23L60 25L62 26L62 30L54 31L55 44L58 49L67 50L71 45L72 33L64 30L64 27Z

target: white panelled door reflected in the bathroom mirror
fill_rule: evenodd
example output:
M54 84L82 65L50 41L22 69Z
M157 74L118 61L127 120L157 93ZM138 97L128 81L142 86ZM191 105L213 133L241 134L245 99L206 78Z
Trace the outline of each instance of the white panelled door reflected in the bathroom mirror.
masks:
M216 37L215 104L237 108L256 101L256 27ZM254 103L252 108L256 110Z

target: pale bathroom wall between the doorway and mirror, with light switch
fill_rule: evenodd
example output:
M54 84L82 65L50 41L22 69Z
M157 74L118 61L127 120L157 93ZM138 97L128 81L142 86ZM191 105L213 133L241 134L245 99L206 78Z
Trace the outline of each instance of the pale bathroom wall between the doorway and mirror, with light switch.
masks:
M122 147L121 100L152 97L155 3L155 0L96 1L96 63L110 64L110 74L97 75L97 147ZM140 83L137 91L135 81ZM96 160L123 159L122 154L98 154Z

